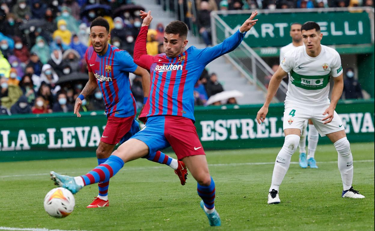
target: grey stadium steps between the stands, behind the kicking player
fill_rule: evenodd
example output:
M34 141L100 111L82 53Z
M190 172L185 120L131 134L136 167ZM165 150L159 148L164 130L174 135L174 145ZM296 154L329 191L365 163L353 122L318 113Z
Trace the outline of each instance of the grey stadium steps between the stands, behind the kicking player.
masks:
M145 11L151 10L153 16L151 28L155 28L156 25L161 22L166 26L169 22L175 20L172 13L165 12L162 7L150 0L137 0L136 4L141 5L145 8ZM189 40L189 46L195 46L197 48L205 48L205 44L202 44L198 37L193 36L190 31L187 39ZM225 57L219 57L207 65L209 73L216 73L219 82L222 83L225 90L238 90L243 92L244 97L237 98L239 104L258 104L264 103L265 93L252 85L240 72L229 63Z

